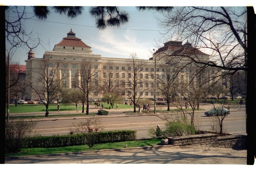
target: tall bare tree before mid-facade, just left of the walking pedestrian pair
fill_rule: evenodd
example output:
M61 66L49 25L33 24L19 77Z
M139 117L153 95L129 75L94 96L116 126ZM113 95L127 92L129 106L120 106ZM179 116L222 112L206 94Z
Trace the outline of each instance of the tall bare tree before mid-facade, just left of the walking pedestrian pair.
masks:
M136 104L138 103L140 96L142 93L148 89L148 86L144 85L143 83L146 82L145 77L141 77L145 62L142 60L138 60L137 54L132 53L130 54L130 60L127 61L128 70L126 69L126 76L128 82L126 82L126 87L122 88L122 94L128 96L134 105L133 112L136 112Z

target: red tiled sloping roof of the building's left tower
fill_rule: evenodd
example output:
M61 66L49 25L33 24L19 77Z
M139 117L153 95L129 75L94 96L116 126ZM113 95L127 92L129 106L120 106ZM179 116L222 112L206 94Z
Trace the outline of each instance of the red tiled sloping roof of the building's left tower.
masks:
M90 46L86 45L84 42L81 41L81 39L77 37L64 37L62 41L60 41L60 43L56 45L91 48Z

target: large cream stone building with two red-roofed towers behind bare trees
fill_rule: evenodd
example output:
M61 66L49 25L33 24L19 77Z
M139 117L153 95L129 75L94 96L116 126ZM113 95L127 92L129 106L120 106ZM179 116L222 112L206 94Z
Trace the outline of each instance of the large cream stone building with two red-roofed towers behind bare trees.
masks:
M32 50L28 53L28 59L25 61L26 76L34 88L28 91L28 97L37 99L42 92L36 91L47 87L44 81L48 81L47 78L51 75L55 76L53 77L55 81L60 81L60 86L63 88L78 88L83 84L82 67L85 63L89 63L90 73L93 75L90 79L91 97L101 98L108 92L118 92L125 97L136 95L141 98L153 98L154 90L156 97L164 97L161 96L160 87L165 83L167 76L165 65L173 68L172 76L176 78L176 83L183 84L182 87L189 88L199 83L198 79L194 78L196 77L194 73L198 73L198 66L194 63L188 64L189 59L182 57L184 55L190 55L193 59L204 62L209 57L192 47L191 43L182 45L180 41L164 43L164 46L156 50L148 60L137 59L135 56L127 59L101 57L93 54L91 47L77 38L71 29L67 37L56 44L52 51L44 53L43 58L36 58ZM45 69L45 75L40 73L41 69ZM204 79L210 84L214 81L212 75L216 73L214 69L207 70ZM154 83L155 77L156 83Z

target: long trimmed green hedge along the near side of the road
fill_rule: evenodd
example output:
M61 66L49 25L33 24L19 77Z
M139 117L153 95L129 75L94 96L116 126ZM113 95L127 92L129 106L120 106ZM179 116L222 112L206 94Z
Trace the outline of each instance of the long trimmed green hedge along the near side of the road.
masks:
M114 143L136 140L135 130L117 130L98 132L95 143ZM86 137L83 134L69 134L62 136L36 136L27 138L22 148L32 147L65 147L72 145L84 145Z

